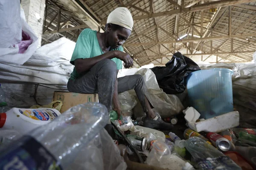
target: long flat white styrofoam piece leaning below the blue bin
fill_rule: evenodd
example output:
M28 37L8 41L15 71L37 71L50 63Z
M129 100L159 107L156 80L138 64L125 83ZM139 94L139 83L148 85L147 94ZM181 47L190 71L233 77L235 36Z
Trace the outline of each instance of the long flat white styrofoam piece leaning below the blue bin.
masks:
M239 112L233 111L200 122L188 122L190 128L197 132L221 132L239 125Z

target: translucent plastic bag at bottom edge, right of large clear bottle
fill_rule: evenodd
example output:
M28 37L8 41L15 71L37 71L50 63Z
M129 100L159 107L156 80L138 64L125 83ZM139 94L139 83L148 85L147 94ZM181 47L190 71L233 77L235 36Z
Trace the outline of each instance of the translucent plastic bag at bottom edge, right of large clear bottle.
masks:
M126 170L120 150L105 129L84 147L69 170Z

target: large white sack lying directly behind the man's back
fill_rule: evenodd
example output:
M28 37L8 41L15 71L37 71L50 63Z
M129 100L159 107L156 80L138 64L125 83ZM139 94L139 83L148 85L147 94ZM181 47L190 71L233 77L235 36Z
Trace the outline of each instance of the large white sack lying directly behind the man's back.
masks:
M74 68L70 59L75 45L75 42L62 37L38 48L23 65L0 63L0 82L67 85Z

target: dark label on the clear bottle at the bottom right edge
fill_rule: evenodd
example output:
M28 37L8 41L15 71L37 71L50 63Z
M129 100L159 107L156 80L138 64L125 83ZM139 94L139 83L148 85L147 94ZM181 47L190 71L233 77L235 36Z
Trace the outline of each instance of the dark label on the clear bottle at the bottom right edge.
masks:
M236 163L227 156L216 158L197 159L196 162L201 170L234 169L238 167Z

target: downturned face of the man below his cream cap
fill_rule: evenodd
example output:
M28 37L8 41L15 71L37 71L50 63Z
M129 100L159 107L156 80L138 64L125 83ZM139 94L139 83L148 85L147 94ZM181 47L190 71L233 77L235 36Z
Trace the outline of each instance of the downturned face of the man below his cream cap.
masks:
M109 28L108 43L113 49L119 48L119 46L123 45L130 35L131 30L127 28L121 27L114 31L113 28Z

